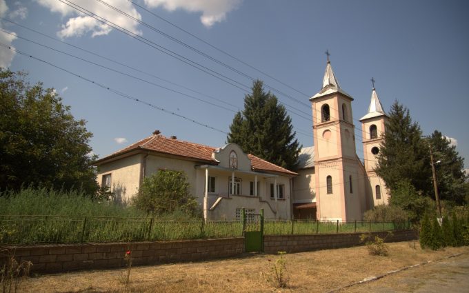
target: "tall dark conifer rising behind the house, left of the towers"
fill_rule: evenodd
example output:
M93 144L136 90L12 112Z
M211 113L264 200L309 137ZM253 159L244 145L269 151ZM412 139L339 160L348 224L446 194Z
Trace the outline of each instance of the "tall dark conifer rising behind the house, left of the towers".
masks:
M252 93L244 98L244 110L234 115L227 141L237 143L246 153L295 170L301 146L292 129L285 107L257 80Z

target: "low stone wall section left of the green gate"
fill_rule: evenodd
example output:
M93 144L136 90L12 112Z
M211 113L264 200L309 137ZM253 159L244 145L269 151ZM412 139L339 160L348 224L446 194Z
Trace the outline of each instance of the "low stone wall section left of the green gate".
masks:
M32 272L50 273L121 267L126 265L127 250L131 251L133 265L237 256L244 252L244 238L0 246L4 249L14 252L17 261L31 261ZM3 261L0 258L0 264Z

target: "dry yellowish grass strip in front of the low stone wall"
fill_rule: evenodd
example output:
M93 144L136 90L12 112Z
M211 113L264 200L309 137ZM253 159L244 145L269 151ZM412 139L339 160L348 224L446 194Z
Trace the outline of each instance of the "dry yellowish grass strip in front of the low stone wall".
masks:
M132 268L130 285L119 283L121 270L39 276L24 292L328 292L400 267L441 259L469 247L421 250L407 242L390 243L389 256L370 256L364 246L286 254L288 287L268 282L278 256L253 254L239 259ZM269 261L270 260L270 261Z

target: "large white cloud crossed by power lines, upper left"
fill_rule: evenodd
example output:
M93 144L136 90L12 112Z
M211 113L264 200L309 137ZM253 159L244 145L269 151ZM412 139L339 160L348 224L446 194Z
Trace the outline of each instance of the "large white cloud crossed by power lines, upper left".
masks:
M79 10L75 10L64 3L58 2L57 0L37 0L37 2L42 6L49 8L51 12L59 13L62 17L68 17L66 23L62 24L62 29L57 32L57 35L61 38L81 37L88 32L91 32L91 37L97 37L109 34L112 31L110 26L107 26L101 21L98 21L83 12L79 12ZM141 20L141 15L129 1L106 0L105 2L110 6L114 6L115 8L130 14L135 19ZM129 30L134 34L141 34L141 31L137 28L139 24L137 21L134 21L133 19L126 17L126 15L105 6L99 1L74 0L73 3L83 8L83 10L88 10L103 19L107 19L125 30Z

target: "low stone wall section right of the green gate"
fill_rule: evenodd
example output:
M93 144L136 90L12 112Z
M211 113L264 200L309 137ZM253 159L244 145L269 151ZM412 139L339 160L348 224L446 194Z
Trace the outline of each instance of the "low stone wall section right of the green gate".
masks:
M415 230L395 231L386 238L386 242L410 241L418 239ZM382 238L388 232L372 232ZM339 247L363 245L360 242L361 233L316 234L316 235L265 235L264 252L277 254L284 252L304 252L312 250L326 250Z

